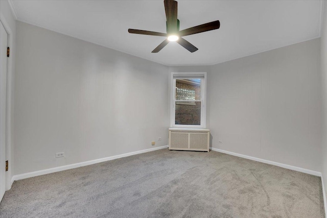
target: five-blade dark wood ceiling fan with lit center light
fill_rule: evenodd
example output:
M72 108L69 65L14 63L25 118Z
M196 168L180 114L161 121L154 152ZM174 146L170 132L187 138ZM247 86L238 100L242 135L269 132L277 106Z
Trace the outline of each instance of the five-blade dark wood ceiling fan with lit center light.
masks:
M129 33L135 34L142 34L142 35L151 35L151 36L165 36L167 39L161 42L153 51L152 53L157 53L161 49L163 49L170 41L176 41L178 44L183 46L185 49L189 50L190 52L195 52L198 50L190 42L186 41L182 38L182 36L188 36L196 33L202 33L210 30L216 30L220 27L219 20L204 23L202 25L191 27L185 30L179 31L179 20L177 19L177 2L174 0L164 0L165 4L165 11L166 11L166 28L167 33L158 33L146 30L135 30L135 29L128 29Z

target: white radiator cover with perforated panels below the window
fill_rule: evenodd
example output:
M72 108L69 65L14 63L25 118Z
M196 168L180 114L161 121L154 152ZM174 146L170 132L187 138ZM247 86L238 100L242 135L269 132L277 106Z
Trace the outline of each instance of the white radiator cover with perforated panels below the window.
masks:
M209 151L210 130L169 128L169 150Z

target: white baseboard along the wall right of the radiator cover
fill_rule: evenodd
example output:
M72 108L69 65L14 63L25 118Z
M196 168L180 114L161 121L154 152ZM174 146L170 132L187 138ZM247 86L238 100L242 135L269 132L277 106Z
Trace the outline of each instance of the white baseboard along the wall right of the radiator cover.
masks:
M312 171L311 169L305 169L305 168L301 168L301 167L297 167L297 166L291 166L291 165L287 165L287 164L284 164L284 163L278 163L278 162L265 160L265 159L260 159L260 158L256 158L256 157L251 157L251 156L247 156L247 155L243 155L243 154L228 152L228 151L221 150L221 149L216 149L216 148L210 148L210 149L213 150L213 151L216 151L216 152L221 152L221 153L229 154L229 155L232 155L232 156L242 157L242 158L245 158L245 159L254 160L254 161L258 161L258 162L262 162L262 163L268 163L268 164L271 164L271 165L280 166L280 167L287 168L287 169L292 169L293 171L298 171L298 172L302 172L302 173L306 173L306 174L321 177L320 172Z

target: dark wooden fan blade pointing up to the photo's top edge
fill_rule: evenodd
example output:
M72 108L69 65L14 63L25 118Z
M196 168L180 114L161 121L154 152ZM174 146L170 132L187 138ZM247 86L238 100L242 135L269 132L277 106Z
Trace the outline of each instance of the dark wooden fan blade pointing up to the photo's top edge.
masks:
M177 2L174 0L165 0L165 11L167 18L167 33L177 32Z

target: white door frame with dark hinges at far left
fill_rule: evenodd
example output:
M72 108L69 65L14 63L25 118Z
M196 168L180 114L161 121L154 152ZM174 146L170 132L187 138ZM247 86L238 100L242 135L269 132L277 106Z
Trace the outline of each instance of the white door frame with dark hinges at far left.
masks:
M9 168L6 175L6 190L11 188L12 181L12 130L13 130L13 116L12 116L12 106L13 106L13 56L14 54L14 41L13 32L9 26L8 21L5 16L0 12L0 21L7 32L7 44L10 47L10 56L7 58L7 96L6 96L6 159L9 163Z

